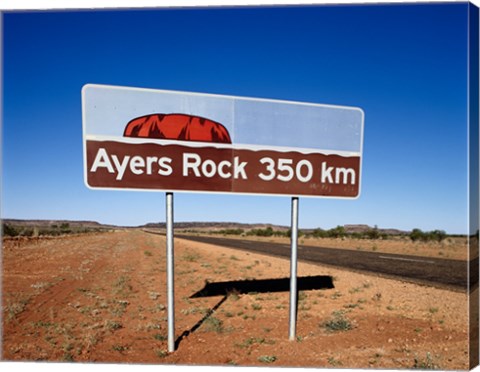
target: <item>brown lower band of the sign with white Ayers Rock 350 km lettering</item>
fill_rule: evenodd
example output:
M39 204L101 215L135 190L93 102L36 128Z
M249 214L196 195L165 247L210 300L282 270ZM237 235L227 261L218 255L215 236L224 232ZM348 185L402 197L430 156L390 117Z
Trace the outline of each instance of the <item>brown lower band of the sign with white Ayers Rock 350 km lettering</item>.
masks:
M90 187L356 197L360 157L87 140Z

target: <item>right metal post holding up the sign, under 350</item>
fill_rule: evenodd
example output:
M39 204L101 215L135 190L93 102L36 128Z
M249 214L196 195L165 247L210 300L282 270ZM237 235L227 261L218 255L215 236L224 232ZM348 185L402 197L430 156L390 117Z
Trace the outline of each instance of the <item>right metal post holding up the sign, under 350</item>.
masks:
M290 320L288 327L288 339L290 341L294 341L297 326L298 197L292 197L292 227L290 239Z

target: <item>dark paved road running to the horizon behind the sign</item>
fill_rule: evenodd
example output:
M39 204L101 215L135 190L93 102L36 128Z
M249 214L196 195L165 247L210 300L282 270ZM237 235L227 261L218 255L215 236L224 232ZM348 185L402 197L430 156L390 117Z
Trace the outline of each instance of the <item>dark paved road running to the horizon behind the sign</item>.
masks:
M175 237L273 256L290 257L289 244L210 236L175 235ZM478 257L468 262L299 245L298 259L456 291L467 290L468 266L470 263L471 287L478 286Z

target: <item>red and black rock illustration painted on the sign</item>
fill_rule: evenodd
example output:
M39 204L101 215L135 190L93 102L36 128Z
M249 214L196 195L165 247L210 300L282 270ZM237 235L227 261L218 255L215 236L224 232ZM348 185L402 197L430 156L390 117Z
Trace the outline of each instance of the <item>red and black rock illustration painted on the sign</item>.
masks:
M124 137L157 138L179 141L232 143L220 123L187 114L151 114L128 122Z

